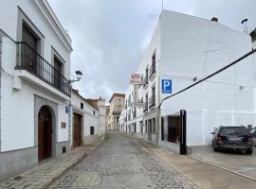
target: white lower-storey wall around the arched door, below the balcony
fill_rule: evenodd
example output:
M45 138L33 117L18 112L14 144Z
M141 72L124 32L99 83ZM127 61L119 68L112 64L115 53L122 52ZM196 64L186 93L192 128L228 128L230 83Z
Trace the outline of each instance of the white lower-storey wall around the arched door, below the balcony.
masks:
M34 88L25 81L22 82L21 91L12 91L16 45L9 38L3 38L2 46L2 67L5 72L1 76L1 151L34 146L34 95L58 104L57 141L68 141L68 128L61 129L61 122L68 123L68 113L64 112L68 103L41 92L41 89Z

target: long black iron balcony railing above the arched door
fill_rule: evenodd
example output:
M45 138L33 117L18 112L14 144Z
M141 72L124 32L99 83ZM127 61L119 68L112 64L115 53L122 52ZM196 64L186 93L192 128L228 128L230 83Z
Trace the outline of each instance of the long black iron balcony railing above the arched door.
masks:
M41 55L25 42L17 43L17 65L15 69L27 70L32 75L70 96L71 86L68 79L49 64Z

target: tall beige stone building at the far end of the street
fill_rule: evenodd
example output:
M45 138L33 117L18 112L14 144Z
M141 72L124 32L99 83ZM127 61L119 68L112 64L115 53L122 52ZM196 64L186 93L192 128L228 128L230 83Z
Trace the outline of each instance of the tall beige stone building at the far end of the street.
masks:
M125 94L113 94L109 100L110 107L108 113L107 130L119 129L119 115L124 108Z

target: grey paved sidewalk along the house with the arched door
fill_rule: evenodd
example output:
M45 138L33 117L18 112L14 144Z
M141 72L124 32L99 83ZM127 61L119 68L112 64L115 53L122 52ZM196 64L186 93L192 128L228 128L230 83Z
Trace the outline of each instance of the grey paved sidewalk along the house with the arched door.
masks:
M42 189L53 180L64 174L70 167L80 162L105 140L99 140L89 146L80 146L63 156L48 160L46 163L21 173L15 177L0 182L0 189Z

